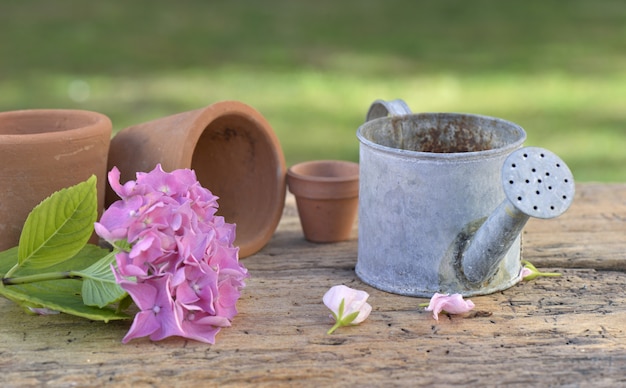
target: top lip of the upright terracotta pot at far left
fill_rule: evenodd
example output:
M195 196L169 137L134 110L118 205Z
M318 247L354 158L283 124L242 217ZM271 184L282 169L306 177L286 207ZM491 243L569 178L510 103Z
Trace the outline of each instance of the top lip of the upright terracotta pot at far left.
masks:
M0 123L8 120L23 120L35 118L54 118L54 117L80 117L85 122L76 125L73 128L56 128L55 130L42 130L41 132L32 133L3 133L0 131L0 141L5 144L24 144L24 143L42 143L47 142L51 136L85 137L86 133L99 131L102 125L111 125L111 119L106 115L82 109L22 109L0 112ZM43 126L42 126L43 128Z

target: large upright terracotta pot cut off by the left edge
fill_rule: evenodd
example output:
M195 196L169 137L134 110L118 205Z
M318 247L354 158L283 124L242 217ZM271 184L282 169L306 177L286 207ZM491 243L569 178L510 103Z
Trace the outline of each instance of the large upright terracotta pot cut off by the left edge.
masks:
M0 250L18 244L26 217L39 202L92 174L103 209L110 140L111 120L96 112L0 113Z

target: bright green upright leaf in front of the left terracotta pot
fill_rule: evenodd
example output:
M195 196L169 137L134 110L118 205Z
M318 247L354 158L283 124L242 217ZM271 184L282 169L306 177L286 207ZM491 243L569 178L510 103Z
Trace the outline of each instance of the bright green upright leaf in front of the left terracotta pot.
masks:
M97 208L95 175L43 200L24 224L18 266L42 269L73 257L93 233Z

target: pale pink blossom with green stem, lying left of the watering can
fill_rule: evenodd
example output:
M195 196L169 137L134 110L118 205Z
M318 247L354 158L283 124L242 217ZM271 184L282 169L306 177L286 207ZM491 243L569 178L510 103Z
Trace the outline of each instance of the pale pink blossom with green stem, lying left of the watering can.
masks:
M372 312L367 303L369 294L344 285L333 286L324 294L322 300L332 312L335 325L328 331L331 334L341 326L357 325L363 322Z

